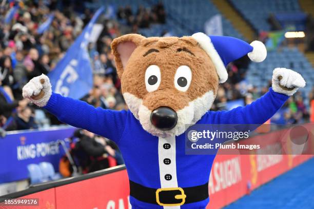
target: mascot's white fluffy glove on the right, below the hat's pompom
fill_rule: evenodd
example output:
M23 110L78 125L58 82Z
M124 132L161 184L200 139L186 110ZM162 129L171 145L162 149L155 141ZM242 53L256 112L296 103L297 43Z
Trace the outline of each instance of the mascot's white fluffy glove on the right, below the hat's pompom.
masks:
M274 92L291 96L303 87L305 87L305 80L299 73L286 68L273 70L272 90Z

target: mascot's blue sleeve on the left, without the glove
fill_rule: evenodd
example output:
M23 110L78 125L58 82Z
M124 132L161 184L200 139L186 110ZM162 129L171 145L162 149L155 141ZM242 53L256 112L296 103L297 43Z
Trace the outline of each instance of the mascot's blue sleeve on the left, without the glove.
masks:
M84 101L56 93L52 93L44 108L64 123L86 129L114 142L119 142L127 118L127 111L94 108Z

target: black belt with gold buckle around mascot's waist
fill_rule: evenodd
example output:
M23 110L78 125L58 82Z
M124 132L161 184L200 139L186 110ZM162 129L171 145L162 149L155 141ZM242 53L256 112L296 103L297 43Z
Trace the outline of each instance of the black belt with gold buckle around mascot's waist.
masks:
M163 206L183 205L208 198L208 182L192 187L153 189L130 180L130 195L142 202Z

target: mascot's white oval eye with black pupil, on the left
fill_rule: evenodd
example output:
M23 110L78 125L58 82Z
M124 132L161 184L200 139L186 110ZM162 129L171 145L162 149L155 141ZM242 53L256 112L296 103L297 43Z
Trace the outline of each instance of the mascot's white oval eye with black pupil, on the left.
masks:
M151 65L145 72L145 86L148 92L156 91L160 85L160 69L156 65Z

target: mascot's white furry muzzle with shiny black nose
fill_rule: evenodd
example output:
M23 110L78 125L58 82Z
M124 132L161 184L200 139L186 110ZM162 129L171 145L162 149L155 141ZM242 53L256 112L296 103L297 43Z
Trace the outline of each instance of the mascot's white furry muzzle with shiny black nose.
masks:
M143 105L143 99L128 92L123 96L134 117L140 120L143 129L158 137L183 134L188 126L195 124L210 109L215 98L213 91L208 91L179 111L166 106L151 111Z

